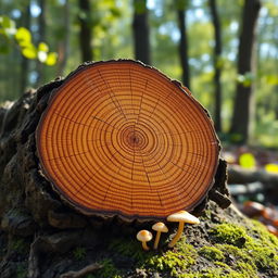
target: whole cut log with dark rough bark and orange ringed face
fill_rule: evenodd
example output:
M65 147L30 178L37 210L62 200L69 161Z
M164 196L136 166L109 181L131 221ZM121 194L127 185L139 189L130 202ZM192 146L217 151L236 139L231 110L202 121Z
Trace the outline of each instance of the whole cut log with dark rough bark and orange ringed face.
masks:
M0 132L1 277L14 277L18 237L33 242L28 277L56 277L37 269L41 252L96 247L112 224L130 235L179 210L200 214L210 199L230 204L207 112L139 62L86 63L26 92L0 110Z

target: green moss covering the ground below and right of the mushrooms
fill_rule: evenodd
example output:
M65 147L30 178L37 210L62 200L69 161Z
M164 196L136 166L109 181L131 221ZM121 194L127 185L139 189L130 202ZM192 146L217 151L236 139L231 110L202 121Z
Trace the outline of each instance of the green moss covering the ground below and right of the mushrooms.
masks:
M162 277L176 278L258 278L267 273L278 277L278 239L263 225L250 222L247 227L222 223L211 225L208 240L193 242L182 237L174 249L160 251L142 250L140 242L115 239L109 249L114 256L128 257L131 268L148 275L159 273ZM152 247L152 243L149 243ZM116 269L111 261L105 268ZM114 268L113 268L114 267ZM121 271L111 270L118 277ZM102 273L100 270L99 275ZM105 273L105 271L104 271ZM164 275L164 276L163 276ZM99 277L108 277L102 274ZM123 276L124 277L124 276Z

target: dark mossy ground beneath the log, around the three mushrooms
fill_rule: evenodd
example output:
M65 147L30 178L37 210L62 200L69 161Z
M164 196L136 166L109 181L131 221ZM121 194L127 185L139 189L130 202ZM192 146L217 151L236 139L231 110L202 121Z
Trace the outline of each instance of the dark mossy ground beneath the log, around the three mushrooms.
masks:
M11 236L8 240L0 231L0 277L278 277L278 238L262 224L244 217L235 206L222 210L214 203L200 219L200 225L186 226L174 249L167 248L176 228L172 225L160 249L149 252L136 240L138 225L119 225L115 219L105 227L92 224L86 229L43 230L35 241ZM141 228L151 230L151 226ZM99 269L81 276L68 274L91 264Z

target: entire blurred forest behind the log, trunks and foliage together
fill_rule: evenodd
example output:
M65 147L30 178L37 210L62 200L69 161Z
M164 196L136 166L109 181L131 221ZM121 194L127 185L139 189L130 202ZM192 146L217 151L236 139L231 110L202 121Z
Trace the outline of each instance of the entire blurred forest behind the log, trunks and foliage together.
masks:
M278 148L278 0L0 0L0 103L84 61L180 80L223 142Z

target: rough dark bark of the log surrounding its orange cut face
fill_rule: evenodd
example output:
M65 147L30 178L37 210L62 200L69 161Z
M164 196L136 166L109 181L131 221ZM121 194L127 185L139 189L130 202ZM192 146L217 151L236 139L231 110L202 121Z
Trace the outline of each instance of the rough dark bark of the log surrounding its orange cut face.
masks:
M81 215L60 199L40 172L35 130L51 92L62 84L62 79L56 79L25 93L12 106L0 109L1 278L16 277L24 269L30 278L65 277L62 275L70 270L88 270L86 265L103 257L113 260L126 274L134 271L124 277L142 277L132 268L135 258L115 257L108 247L108 238L126 237L132 241L139 228L150 229L150 223L125 224L117 218L104 220ZM206 200L195 208L197 214L205 208L208 199L222 207L230 204L224 161L219 163L215 185ZM194 232L191 236L194 238ZM85 255L79 254L83 249L86 249ZM76 252L74 258L73 252ZM85 258L78 261L78 256Z

